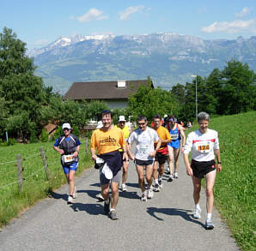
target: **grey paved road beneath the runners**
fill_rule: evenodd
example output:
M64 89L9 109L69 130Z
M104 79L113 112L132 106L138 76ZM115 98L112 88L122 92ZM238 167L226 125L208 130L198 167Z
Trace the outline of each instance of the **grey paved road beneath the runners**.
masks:
M214 230L204 230L205 196L201 192L200 220L192 219L192 181L180 159L180 176L167 182L152 200L139 200L137 173L129 166L128 191L120 193L113 221L103 214L98 171L91 169L76 179L78 198L68 206L64 186L53 198L15 219L0 233L0 250L239 250L216 212Z

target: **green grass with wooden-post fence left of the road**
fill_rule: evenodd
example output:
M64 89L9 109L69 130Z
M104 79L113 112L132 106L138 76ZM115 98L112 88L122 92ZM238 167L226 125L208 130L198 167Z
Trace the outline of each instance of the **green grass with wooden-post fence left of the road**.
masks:
M52 190L66 183L60 164L58 152L52 148L54 142L35 144L16 144L15 146L0 146L0 229L9 220L15 218L29 206L40 199L46 198ZM50 180L46 179L46 171L40 156L40 146L46 153L46 161L50 171ZM17 182L16 155L21 154L23 190L20 193ZM80 161L76 175L92 165L89 155L85 155L84 140L82 140Z

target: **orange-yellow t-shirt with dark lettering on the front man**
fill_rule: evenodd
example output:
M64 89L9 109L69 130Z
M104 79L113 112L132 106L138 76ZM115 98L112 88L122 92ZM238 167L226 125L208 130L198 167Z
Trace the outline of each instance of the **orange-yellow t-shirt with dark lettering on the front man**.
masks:
M95 129L91 137L91 148L97 148L98 154L113 152L124 146L124 133L120 128L113 127L108 131Z

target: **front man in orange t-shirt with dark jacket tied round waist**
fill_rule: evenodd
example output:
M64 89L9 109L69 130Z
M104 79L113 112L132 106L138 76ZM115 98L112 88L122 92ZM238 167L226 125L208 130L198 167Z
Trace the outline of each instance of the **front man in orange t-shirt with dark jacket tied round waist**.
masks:
M128 159L128 156L123 131L113 126L112 112L102 111L101 121L103 127L95 129L91 137L91 155L94 161L98 156L102 158L113 174L110 180L107 178L106 173L103 173L102 169L100 169L101 194L105 199L104 211L114 220L118 219L115 209L119 200L120 170L123 166L119 148L124 150L124 159ZM96 150L98 156L96 155ZM109 183L113 194L112 201L110 201L109 197Z

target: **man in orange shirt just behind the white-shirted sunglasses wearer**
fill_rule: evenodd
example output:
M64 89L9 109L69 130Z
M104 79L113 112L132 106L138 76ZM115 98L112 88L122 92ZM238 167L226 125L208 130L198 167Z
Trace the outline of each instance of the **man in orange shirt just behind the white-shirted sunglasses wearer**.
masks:
M164 164L168 159L168 143L171 142L171 135L168 132L167 128L162 126L161 116L155 115L153 118L154 128L162 140L162 145L159 150L155 154L155 164L154 164L154 171L153 177L155 179L155 192L159 192L160 188L163 188L162 184L162 175L164 172ZM158 166L159 166L159 175L158 175Z

